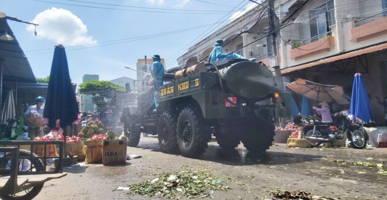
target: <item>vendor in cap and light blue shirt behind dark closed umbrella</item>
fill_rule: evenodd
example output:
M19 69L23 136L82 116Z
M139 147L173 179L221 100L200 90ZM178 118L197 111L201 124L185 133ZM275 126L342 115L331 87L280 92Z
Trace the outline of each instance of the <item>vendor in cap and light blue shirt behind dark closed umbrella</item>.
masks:
M24 113L25 123L28 126L28 134L31 140L43 135L43 104L45 99L41 96L35 98L36 105L28 107Z

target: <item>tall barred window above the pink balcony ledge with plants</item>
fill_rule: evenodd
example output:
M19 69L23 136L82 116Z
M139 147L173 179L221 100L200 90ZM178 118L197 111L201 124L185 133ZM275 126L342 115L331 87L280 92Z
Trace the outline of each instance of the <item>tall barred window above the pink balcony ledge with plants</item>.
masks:
M333 0L309 11L309 21L311 41L314 42L329 32L329 27L336 23Z

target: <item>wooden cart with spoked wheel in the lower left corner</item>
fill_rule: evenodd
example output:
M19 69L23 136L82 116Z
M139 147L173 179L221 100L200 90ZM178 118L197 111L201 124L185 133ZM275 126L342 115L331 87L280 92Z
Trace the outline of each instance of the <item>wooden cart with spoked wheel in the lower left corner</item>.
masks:
M35 145L44 146L44 155L32 152ZM47 156L47 145L58 145L59 156ZM0 198L33 199L46 181L66 176L63 173L62 141L0 141ZM30 150L21 149L30 147ZM56 167L47 167L47 159L58 159Z

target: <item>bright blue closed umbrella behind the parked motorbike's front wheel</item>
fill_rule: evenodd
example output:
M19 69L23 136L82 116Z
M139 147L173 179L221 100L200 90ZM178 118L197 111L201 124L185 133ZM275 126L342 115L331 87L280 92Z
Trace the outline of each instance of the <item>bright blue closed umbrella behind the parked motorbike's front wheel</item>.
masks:
M374 121L361 73L356 73L353 80L350 114L354 120L359 118L365 122Z

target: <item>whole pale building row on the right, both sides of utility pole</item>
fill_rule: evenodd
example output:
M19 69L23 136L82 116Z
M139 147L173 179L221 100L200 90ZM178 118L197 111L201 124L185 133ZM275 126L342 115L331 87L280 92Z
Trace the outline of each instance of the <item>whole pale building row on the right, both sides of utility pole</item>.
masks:
M238 53L270 66L274 48L267 37L268 16L260 15L263 10L267 8L256 6L193 45L177 59L179 65L208 57L220 38L225 53L253 42ZM342 85L351 96L353 76L362 73L376 124L385 125L387 0L281 0L275 1L274 10L280 29L276 58L284 80Z

